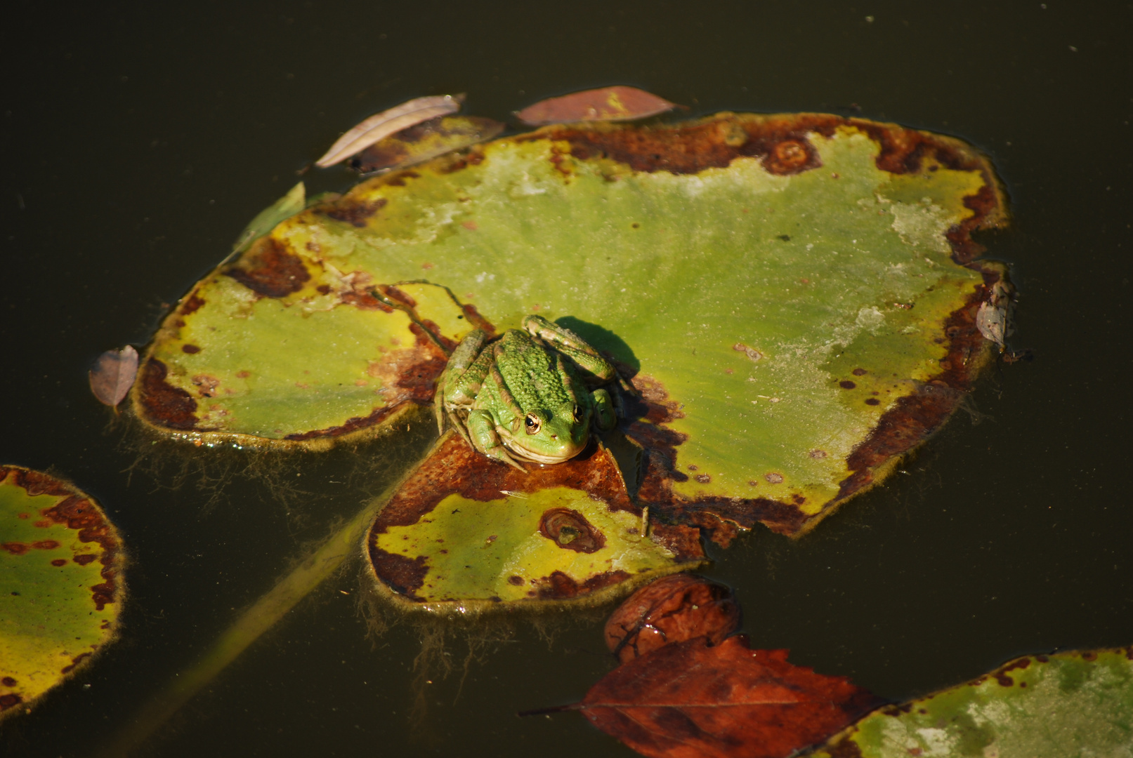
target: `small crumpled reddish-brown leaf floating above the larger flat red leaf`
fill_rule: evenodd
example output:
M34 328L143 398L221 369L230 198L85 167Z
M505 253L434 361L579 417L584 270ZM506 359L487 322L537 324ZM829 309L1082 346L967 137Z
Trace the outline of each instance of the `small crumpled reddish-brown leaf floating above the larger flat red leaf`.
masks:
M718 645L740 626L732 592L690 574L673 574L630 595L606 621L606 646L622 663L663 645L707 637Z

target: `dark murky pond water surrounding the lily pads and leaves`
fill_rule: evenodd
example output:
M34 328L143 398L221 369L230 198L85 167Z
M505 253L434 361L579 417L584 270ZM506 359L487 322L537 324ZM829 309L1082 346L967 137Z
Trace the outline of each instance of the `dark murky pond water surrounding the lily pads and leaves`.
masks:
M980 415L959 413L906 475L796 543L758 529L708 572L735 588L756 646L893 699L1023 653L1133 643L1128 3L235 5L14 2L3 20L0 460L101 501L129 548L130 598L121 641L6 723L0 752L105 743L380 486L381 443L284 462L269 481L287 503L237 476L210 507L196 468L172 486L179 459L210 475L255 462L237 454L172 446L130 479L136 436L108 427L86 370L144 344L339 132L435 93L467 92L468 112L497 119L607 84L693 115L855 103L986 150L1014 219L982 241L1012 265L1015 343L1033 362L993 367ZM350 183L308 178L310 191ZM577 714L514 716L610 670L596 623L550 645L520 626L455 704L459 677L432 686L415 730L419 632L373 644L357 587L351 567L305 601L146 755L631 755Z

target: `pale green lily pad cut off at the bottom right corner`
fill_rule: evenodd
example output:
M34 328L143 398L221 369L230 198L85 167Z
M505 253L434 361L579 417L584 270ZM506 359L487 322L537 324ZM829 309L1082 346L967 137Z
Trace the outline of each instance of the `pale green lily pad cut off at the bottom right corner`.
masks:
M1133 755L1133 647L1030 655L866 716L816 758Z

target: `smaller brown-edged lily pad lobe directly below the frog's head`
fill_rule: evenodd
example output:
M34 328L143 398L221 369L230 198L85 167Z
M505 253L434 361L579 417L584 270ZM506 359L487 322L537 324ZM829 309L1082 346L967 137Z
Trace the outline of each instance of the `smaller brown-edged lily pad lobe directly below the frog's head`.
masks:
M365 550L383 594L441 613L598 604L702 562L697 531L650 525L604 447L526 465L442 438L370 525Z

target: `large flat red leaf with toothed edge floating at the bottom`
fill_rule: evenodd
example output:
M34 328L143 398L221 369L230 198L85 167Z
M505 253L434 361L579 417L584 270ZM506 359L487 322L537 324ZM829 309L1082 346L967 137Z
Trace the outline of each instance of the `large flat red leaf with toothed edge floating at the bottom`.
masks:
M880 705L843 677L752 651L746 637L666 645L624 663L586 694L582 713L651 758L785 758Z

